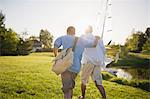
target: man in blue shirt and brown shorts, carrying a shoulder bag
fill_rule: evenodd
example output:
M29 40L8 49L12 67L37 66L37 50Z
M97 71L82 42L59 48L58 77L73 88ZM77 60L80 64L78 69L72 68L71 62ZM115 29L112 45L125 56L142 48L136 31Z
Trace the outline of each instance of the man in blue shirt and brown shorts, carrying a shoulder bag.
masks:
M58 48L63 46L63 49L72 48L75 41L75 28L69 26L67 28L67 35L61 36L54 42L54 55L57 56ZM72 99L73 88L75 86L75 78L80 71L81 57L84 47L82 40L78 39L74 49L73 65L61 74L62 91L65 99Z

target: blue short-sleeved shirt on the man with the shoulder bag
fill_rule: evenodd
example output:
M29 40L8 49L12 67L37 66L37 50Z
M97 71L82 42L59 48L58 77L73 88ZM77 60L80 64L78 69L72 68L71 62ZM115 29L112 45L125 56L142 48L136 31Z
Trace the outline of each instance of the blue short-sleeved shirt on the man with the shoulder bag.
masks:
M55 40L54 47L60 48L62 46L63 49L72 48L74 41L75 41L75 36L64 35ZM93 46L93 43L94 43L93 40L92 42L87 42L87 40L85 40L85 36L81 36L78 39L75 50L74 50L73 65L68 69L69 71L74 72L74 73L80 72L83 50L85 47Z

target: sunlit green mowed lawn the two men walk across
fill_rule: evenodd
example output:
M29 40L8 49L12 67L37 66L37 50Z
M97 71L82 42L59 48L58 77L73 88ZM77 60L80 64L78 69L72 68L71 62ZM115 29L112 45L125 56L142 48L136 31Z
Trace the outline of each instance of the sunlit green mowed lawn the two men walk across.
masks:
M0 99L63 99L60 77L51 71L51 53L0 57ZM103 81L108 99L150 99L150 92ZM80 95L80 75L76 79L73 99ZM86 99L101 95L90 80Z

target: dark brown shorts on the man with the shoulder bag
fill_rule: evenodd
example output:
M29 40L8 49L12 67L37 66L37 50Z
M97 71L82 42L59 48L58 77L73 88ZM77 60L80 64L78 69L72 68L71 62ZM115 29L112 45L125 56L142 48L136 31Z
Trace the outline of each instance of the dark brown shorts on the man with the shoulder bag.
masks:
M77 77L77 73L70 72L66 70L61 74L62 80L62 91L64 93L68 92L69 90L73 89L75 86L75 78Z

